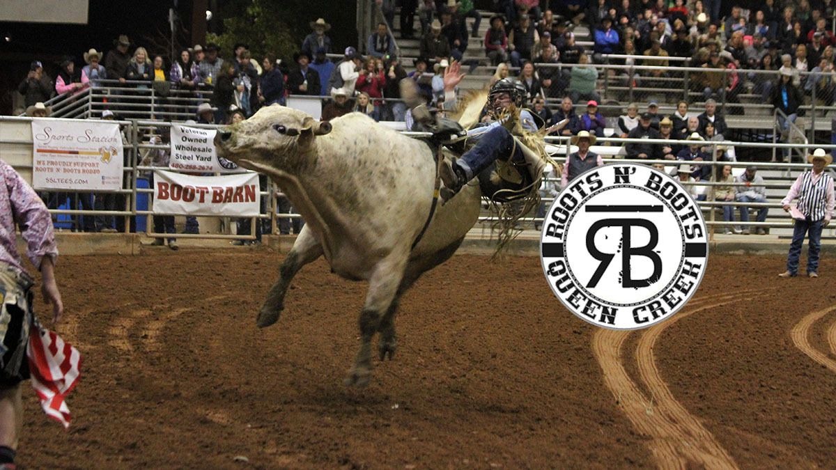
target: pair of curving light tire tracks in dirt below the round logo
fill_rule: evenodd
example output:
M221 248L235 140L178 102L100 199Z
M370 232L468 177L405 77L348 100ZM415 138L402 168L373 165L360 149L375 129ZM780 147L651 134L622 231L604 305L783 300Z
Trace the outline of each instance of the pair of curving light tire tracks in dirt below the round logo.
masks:
M652 351L660 333L676 320L738 299L747 299L750 294L757 294L757 290L694 299L691 301L691 309L645 330L636 348L636 360L639 362L641 380L650 391L650 397L640 391L624 368L621 350L632 331L595 332L592 349L604 372L604 383L636 430L652 438L650 452L659 467L737 468L737 463L716 442L711 432L670 393L655 367Z

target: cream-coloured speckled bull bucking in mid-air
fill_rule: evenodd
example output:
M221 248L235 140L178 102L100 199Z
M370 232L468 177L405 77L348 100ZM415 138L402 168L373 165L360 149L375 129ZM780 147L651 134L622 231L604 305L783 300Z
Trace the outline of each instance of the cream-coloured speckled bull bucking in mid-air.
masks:
M370 381L371 340L380 333L380 360L395 354L395 311L422 273L444 263L477 222L482 192L469 184L436 205L434 151L354 113L331 123L279 105L219 130L219 156L276 181L306 222L279 269L257 324L278 320L293 276L325 257L334 273L367 280L359 315L361 342L347 385Z

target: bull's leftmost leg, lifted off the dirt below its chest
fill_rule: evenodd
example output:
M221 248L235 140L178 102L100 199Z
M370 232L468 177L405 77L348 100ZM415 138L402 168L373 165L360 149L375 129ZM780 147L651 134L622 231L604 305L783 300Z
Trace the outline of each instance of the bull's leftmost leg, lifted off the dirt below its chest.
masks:
M278 280L267 294L261 310L258 312L256 324L260 328L276 323L278 315L284 309L284 295L288 293L290 281L305 264L313 262L322 256L322 245L314 237L308 226L302 227L302 232L290 248L288 257L284 258L282 267L278 269Z

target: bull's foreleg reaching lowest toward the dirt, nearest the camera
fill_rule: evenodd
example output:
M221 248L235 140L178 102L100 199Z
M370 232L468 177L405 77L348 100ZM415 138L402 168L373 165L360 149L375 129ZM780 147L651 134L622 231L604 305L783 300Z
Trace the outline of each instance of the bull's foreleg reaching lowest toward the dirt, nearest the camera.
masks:
M371 339L380 326L380 319L393 307L395 295L404 277L406 255L395 253L378 263L369 279L369 294L360 312L360 349L354 367L345 378L345 385L367 386L371 378Z

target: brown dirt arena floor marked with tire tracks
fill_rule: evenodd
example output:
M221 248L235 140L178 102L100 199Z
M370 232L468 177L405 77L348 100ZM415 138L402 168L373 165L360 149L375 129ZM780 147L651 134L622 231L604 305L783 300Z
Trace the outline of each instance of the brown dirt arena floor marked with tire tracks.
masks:
M836 261L712 255L681 313L601 330L538 258L456 256L415 284L395 360L343 386L364 283L283 255L64 257L59 333L84 355L69 432L24 394L28 468L836 466ZM43 305L38 304L43 312Z

